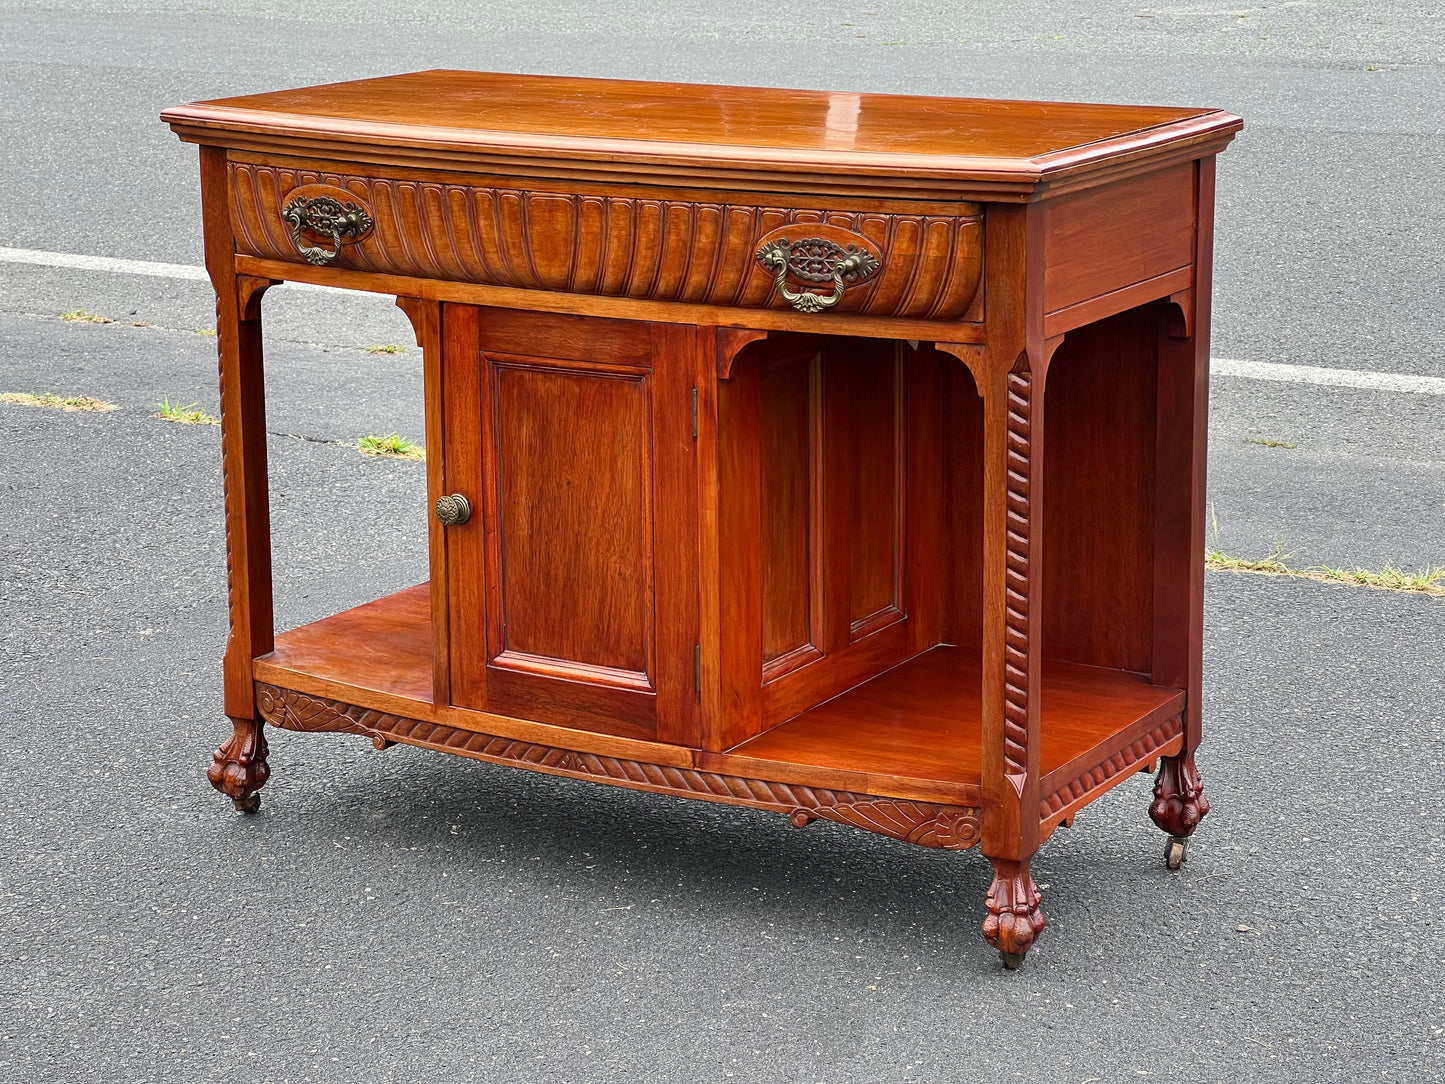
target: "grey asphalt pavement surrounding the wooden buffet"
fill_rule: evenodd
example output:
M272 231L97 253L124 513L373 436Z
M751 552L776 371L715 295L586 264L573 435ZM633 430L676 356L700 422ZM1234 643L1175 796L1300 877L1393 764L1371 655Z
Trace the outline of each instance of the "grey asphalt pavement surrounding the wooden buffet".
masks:
M160 108L415 68L1218 106L1214 353L1445 376L1438 4L997 7L6 3L0 246L198 264ZM0 403L0 1083L1445 1078L1441 598L1211 572L1189 863L1120 786L1017 973L977 853L277 731L231 815L218 432L153 416L212 324L0 262L0 392L118 408ZM290 627L425 578L423 467L345 444L420 439L420 356L350 293L266 335ZM1217 377L1209 467L1231 554L1445 565L1445 396Z

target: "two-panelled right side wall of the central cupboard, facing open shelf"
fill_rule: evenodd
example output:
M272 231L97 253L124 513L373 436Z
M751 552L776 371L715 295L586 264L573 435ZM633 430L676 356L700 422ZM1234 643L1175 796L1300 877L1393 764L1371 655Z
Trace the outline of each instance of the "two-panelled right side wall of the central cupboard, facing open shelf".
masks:
M941 639L939 360L779 338L720 390L727 749Z

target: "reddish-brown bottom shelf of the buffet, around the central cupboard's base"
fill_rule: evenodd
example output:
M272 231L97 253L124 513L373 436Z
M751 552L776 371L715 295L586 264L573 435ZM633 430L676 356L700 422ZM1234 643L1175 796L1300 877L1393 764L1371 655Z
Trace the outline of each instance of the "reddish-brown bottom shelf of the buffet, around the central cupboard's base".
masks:
M835 791L978 802L980 661L959 648L933 648L727 753L709 754L436 705L429 621L429 588L420 584L282 633L276 649L256 661L256 676L334 702L539 747ZM1142 762L1175 752L1182 708L1183 692L1137 674L1046 662L1040 820L1068 817Z

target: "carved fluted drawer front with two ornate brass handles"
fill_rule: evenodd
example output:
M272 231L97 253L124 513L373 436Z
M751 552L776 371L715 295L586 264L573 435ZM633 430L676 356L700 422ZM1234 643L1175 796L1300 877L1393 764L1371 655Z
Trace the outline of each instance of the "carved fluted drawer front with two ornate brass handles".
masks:
M975 319L981 304L977 204L915 214L764 202L747 192L543 191L244 160L230 173L237 247L264 259L803 312ZM335 201L324 205L331 217L319 233L298 233L308 211L316 220L315 204L298 199L318 195ZM345 233L337 223L366 228Z

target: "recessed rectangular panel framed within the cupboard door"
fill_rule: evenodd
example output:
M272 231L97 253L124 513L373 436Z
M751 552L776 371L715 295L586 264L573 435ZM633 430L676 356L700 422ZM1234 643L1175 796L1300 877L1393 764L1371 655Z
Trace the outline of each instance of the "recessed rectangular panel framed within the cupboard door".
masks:
M487 361L501 569L493 662L652 689L647 374Z

